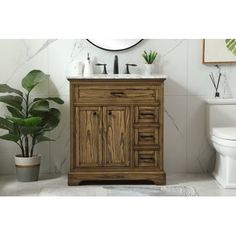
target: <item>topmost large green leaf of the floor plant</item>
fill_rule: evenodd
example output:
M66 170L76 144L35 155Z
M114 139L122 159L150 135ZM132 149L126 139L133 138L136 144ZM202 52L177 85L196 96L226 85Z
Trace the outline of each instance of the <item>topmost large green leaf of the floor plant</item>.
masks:
M30 71L22 80L22 87L30 92L36 85L45 79L49 79L49 75L40 70Z

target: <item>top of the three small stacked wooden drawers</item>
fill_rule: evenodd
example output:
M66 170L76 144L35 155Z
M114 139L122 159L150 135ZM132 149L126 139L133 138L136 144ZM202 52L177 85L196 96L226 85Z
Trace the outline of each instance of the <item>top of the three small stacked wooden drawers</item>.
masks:
M158 123L159 106L136 106L135 123Z

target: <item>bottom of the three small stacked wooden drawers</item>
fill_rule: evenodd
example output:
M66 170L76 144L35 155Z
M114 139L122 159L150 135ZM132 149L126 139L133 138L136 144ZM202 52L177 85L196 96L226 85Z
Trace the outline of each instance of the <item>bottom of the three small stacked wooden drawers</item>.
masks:
M156 150L138 150L135 151L135 166L159 168L159 158L159 152Z

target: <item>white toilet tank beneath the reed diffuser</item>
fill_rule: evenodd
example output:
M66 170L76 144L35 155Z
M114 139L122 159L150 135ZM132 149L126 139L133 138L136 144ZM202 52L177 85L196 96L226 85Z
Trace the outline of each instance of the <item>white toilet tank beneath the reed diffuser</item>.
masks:
M207 100L207 130L214 127L236 127L236 98L213 98Z

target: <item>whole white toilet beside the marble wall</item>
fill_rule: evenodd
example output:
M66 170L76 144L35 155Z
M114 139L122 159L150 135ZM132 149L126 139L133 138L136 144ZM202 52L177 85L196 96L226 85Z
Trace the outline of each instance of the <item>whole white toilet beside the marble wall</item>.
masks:
M236 98L207 100L207 131L216 150L213 176L224 188L236 188Z

